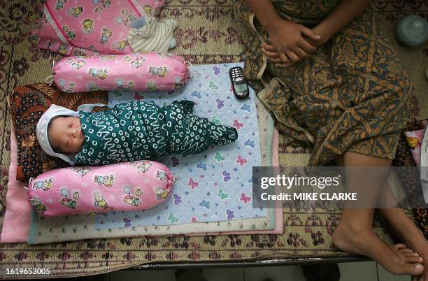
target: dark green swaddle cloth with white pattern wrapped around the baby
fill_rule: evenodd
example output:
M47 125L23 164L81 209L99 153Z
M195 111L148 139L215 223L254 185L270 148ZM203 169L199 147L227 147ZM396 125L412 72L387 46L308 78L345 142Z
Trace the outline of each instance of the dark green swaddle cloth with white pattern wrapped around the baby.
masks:
M197 154L210 145L236 141L235 128L194 115L193 106L193 101L173 101L163 107L153 101L133 101L97 113L80 111L85 141L76 154L76 165L154 159L170 153Z

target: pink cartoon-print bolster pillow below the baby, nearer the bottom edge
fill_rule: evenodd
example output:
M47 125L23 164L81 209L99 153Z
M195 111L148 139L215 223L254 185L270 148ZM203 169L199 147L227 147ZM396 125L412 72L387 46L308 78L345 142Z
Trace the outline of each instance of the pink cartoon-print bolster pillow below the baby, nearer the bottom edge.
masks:
M31 180L28 200L46 217L146 210L166 201L174 181L169 168L154 161L59 168Z

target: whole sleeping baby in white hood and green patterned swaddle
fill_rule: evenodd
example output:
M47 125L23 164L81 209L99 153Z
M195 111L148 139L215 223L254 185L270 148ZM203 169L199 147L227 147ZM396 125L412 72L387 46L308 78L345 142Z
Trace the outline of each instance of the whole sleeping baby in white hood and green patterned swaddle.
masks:
M235 128L194 115L193 106L193 101L163 107L133 101L87 113L52 105L38 121L37 139L47 154L79 166L197 154L236 141Z

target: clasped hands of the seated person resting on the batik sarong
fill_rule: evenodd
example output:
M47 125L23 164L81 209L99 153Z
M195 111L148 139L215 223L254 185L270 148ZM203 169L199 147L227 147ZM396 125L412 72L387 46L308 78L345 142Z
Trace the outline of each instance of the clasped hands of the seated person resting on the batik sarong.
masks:
M301 24L283 19L266 26L270 38L263 43L262 52L275 66L290 67L308 57L321 45L321 36Z

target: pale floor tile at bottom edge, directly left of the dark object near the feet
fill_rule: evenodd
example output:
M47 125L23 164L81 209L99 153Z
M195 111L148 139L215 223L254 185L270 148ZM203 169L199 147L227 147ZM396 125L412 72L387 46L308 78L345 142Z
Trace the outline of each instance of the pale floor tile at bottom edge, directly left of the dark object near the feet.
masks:
M300 266L269 266L244 269L245 281L306 281Z

